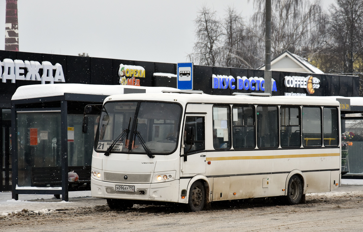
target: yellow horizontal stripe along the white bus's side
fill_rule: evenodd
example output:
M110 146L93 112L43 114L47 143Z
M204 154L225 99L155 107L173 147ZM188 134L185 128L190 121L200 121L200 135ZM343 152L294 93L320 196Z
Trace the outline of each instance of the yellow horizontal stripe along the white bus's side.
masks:
M294 155L278 155L278 156L208 157L207 161L236 160L236 159L284 159L284 158L306 158L306 157L326 157L326 156L340 156L340 154L339 153L325 153L325 154L294 154Z

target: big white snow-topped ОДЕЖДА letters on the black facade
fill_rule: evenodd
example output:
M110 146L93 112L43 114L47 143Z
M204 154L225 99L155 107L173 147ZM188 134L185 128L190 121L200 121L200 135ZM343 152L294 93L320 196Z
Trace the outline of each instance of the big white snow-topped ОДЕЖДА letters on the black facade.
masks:
M65 82L62 66L59 63L52 65L49 61L42 61L40 64L38 61L22 61L19 59L4 59L1 63L1 79L3 83L7 80L11 80L11 83L15 83L16 80L37 80L42 84L49 82ZM23 69L22 69L23 68ZM26 74L25 69L26 68ZM39 74L39 69L43 70L42 76ZM53 70L56 70L53 76Z

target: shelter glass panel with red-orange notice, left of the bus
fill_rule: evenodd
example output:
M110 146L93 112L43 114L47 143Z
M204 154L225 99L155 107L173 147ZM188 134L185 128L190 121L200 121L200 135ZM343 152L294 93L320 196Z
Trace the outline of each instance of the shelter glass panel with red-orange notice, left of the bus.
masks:
M61 167L60 112L17 112L16 123L18 186L61 186L51 173Z

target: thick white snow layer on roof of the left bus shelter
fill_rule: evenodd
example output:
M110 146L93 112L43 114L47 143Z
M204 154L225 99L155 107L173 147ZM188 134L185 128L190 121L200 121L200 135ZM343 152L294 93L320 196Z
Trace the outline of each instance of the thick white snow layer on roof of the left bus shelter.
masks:
M28 86L20 86L17 88L11 100L62 96L65 93L110 96L114 94L123 94L124 89L145 90L146 93L157 93L162 92L163 90L177 90L176 88L170 87L143 87L101 84L33 84Z

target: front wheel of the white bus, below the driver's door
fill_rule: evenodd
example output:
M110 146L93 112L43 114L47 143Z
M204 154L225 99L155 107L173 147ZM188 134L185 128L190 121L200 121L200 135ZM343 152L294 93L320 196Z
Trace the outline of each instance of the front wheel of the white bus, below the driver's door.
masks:
M189 191L188 210L191 212L201 211L205 202L205 189L201 181L192 184Z

